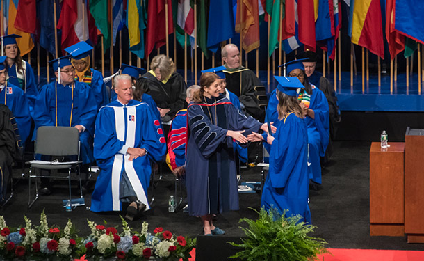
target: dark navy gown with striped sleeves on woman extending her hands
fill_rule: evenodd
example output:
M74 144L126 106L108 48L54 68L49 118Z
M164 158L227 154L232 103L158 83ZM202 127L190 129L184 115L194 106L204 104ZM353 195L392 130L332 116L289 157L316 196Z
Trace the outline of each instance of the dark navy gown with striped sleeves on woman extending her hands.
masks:
M247 135L261 128L254 118L238 113L227 98L220 96L216 100L206 99L207 104L191 102L187 109L190 136L186 187L190 216L238 209L236 161L227 130L246 129Z

